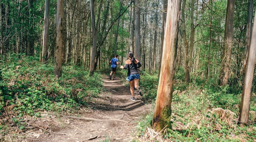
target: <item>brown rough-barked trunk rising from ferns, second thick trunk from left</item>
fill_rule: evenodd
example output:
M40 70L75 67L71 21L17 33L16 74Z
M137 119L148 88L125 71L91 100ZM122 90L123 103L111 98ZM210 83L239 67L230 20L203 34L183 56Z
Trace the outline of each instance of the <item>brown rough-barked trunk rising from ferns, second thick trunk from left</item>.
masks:
M57 14L56 14L56 50L55 50L55 64L54 75L62 76L62 53L63 53L63 0L57 0Z

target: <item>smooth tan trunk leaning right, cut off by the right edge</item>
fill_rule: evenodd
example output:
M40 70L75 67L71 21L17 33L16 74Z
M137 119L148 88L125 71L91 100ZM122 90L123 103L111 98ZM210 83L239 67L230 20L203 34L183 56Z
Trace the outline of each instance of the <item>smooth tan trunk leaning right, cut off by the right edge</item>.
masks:
M244 87L243 87L242 100L241 100L240 111L239 111L240 116L238 120L240 123L246 123L248 122L248 119L249 119L249 106L250 106L250 98L252 93L252 80L254 78L255 61L256 61L256 18L254 18L252 40L250 42L247 66L245 69Z

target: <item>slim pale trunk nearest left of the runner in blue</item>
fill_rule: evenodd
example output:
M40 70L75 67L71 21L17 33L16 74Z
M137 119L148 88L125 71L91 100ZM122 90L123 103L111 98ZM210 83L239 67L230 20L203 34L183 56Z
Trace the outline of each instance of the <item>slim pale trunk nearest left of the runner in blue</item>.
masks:
M92 44L91 44L91 61L90 61L90 70L89 76L94 74L95 66L95 57L97 49L97 30L95 27L95 15L94 15L94 0L90 0L90 9L91 9L91 22L92 22Z

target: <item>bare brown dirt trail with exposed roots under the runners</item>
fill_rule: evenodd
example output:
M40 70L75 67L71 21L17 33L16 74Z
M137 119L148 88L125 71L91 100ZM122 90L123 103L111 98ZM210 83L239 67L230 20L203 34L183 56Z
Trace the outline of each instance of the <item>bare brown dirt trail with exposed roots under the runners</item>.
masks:
M103 78L105 91L88 102L79 112L61 115L40 112L41 117L27 118L25 131L13 129L4 142L130 142L136 135L137 123L152 106L145 104L135 91L130 100L130 88L121 79ZM63 113L63 114L64 114ZM14 135L15 134L15 135ZM2 140L1 140L2 141Z

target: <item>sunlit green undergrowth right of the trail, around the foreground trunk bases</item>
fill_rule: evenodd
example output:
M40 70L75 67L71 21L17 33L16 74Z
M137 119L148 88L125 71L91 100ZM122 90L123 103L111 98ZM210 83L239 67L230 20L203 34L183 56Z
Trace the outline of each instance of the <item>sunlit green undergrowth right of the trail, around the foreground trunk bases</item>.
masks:
M182 74L182 73L181 73ZM152 112L137 125L135 142L143 140L171 142L255 142L256 141L256 97L251 96L249 122L238 124L241 92L234 93L229 86L218 87L214 79L200 83L184 84L176 75L172 99L172 129L156 132L151 127ZM151 79L155 78L155 81ZM144 76L144 96L155 101L157 77ZM198 80L198 79L197 79ZM209 85L210 84L210 85ZM150 89L149 89L150 88ZM236 88L237 90L237 88ZM154 92L154 93L150 93ZM154 95L153 95L154 94ZM147 96L149 95L149 96ZM149 100L150 100L149 99Z

